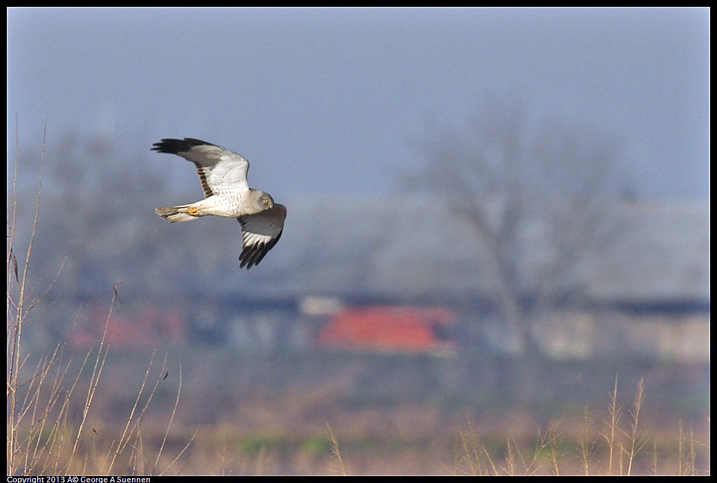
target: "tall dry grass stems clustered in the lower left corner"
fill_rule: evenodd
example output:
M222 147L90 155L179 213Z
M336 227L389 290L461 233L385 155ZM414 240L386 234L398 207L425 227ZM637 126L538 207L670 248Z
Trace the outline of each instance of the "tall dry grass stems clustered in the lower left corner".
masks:
M45 126L47 132L47 125ZM19 145L16 128L16 146ZM151 449L143 441L143 415L163 378L158 377L148 392L147 383L154 365L154 354L148 364L144 380L138 391L123 432L114 439L109 448L98 449L95 428L88 428L95 395L105 369L109 351L106 342L110 318L119 302L118 284L113 285L113 296L102 339L98 347L89 350L80 362L74 363L67 345L60 342L51 354L40 355L33 367L27 367L31 356L24 351L24 331L37 309L52 288L36 295L37 287L29 285L32 250L38 230L42 200L42 169L44 167L44 140L40 159L37 202L30 230L29 242L24 249L24 263L19 264L16 255L16 231L18 230L16 185L19 148L15 150L12 197L9 200L7 235L7 474L166 474L174 468L192 439L171 461L162 459L168 433L174 421L181 395L181 367L179 388L171 417L166 425L163 439L153 457ZM62 267L58 271L58 276ZM57 278L56 278L57 279ZM165 358L166 362L166 358ZM162 368L164 370L164 367ZM83 374L89 374L82 378ZM87 383L87 388L82 385ZM79 415L75 408L81 408Z

